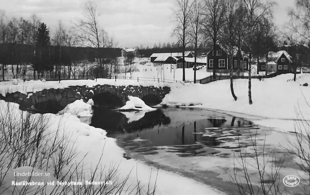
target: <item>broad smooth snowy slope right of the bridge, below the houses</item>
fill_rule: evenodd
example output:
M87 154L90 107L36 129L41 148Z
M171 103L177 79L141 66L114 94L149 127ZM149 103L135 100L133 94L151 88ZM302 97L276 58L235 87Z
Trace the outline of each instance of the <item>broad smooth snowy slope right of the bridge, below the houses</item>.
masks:
M230 91L230 81L220 80L209 84L185 84L171 88L161 104L168 106L189 106L217 109L275 119L295 119L296 110L310 118L310 87L299 83L309 82L310 74L298 75L300 82L287 82L293 74L279 75L270 79L252 79L252 100L248 103L248 80L234 80L234 101ZM299 76L301 78L299 78Z

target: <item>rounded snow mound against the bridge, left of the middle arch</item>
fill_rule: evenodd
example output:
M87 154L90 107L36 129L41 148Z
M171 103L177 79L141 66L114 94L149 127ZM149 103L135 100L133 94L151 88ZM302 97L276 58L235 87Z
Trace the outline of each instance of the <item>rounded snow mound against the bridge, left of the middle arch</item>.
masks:
M92 116L91 115L91 105L85 103L83 100L76 100L75 102L68 104L62 111L58 114L70 113L76 116Z

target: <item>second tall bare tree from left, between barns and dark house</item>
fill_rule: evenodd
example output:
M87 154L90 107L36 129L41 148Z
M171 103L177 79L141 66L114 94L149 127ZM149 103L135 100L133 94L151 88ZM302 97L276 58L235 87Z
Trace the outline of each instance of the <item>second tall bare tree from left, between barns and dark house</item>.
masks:
M202 35L202 17L203 17L203 7L200 0L194 0L192 10L190 12L190 28L192 37L192 42L194 43L194 52L195 52L195 60L194 60L194 83L196 83L196 67L197 67L197 46L201 42Z

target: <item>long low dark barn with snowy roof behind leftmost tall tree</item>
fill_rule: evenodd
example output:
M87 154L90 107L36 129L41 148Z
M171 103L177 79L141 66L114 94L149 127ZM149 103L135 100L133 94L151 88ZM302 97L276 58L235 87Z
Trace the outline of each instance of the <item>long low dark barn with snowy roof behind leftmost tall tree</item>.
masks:
M185 57L193 57L191 51L185 51ZM153 53L151 55L151 62L162 64L176 64L176 61L183 57L183 53Z

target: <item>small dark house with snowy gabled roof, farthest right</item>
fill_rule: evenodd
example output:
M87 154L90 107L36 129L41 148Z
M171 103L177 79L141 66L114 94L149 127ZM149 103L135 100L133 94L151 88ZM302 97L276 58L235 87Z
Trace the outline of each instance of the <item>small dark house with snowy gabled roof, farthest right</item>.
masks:
M291 56L284 50L278 52L269 52L268 63L266 67L266 58L259 62L259 71L278 72L292 71Z

